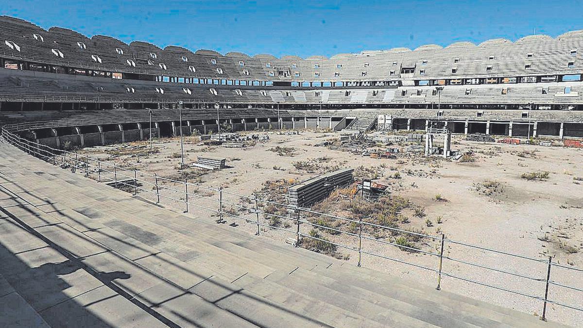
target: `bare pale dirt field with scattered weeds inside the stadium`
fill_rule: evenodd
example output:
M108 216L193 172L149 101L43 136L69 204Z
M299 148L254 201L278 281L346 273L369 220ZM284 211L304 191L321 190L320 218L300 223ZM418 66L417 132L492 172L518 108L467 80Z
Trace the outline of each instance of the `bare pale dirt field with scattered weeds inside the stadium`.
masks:
M161 139L154 143L156 153L143 156L147 142L132 143L146 145L134 151L99 152L82 151L92 158L115 162L128 169L138 170L143 179L149 176L141 172L157 173L160 177L198 183L201 186L218 189L223 187L224 205L234 214L255 221L255 214L245 210L253 208L254 202L242 200L229 194L240 194L269 198L285 202L286 187L294 182L308 179L320 173L342 168L354 168L356 179L371 178L388 184L391 197L371 205L347 188L333 193L314 210L358 220L357 215L368 215L375 223L389 224L397 229L433 236L433 238L410 238L402 233L368 229L372 239L410 245L423 252L407 252L398 247L375 240L363 240L362 249L392 259L408 261L433 270L438 268L437 254L440 251L441 234L456 242L487 247L501 252L519 254L540 261L486 252L475 247L445 242L443 272L456 277L475 280L483 284L512 289L523 294L544 296L547 274L546 261L553 256L553 263L561 266L583 268L583 149L557 146L507 145L464 141L462 137L452 138L452 149L467 152L462 160L425 158L422 153L405 151L405 144L392 145L401 152L396 158L378 159L362 156L359 146L342 146L335 132L301 131L300 134L278 135L275 132L250 132L268 135L268 140L254 140L246 148L224 148L208 145L199 137L185 137L185 163L196 162L201 155L227 159L227 168L209 171L199 168L180 168L180 139ZM318 145L329 141L330 145ZM386 149L388 145L365 145L366 148ZM363 146L364 147L364 146ZM356 149L355 151L352 151ZM113 155L113 156L111 156ZM163 179L160 189L166 200L162 204L183 209L184 186L168 183ZM141 186L138 196L153 200L155 189L150 184ZM172 190L174 189L174 190ZM197 204L218 208L217 193L197 187L189 192L213 200L191 200ZM359 203L360 202L360 203ZM361 207L359 207L361 206ZM244 208L241 208L244 207ZM286 217L280 208L262 210ZM189 214L196 219L217 219L212 213L196 206L189 207ZM310 222L332 226L336 229L357 233L357 226L350 222L332 222L317 215L306 214ZM245 222L236 217L224 217L233 229L256 233L254 222ZM270 221L271 220L271 221ZM318 221L320 220L320 221ZM281 228L294 231L293 219L271 219L261 217L265 224L277 224ZM302 225L302 232L308 233L312 227ZM295 238L293 233L261 227L258 238L282 240ZM353 235L345 235L315 229L318 236L357 248ZM364 232L363 232L364 234ZM291 247L291 246L290 246ZM337 247L330 252L345 259L347 265L358 262L358 253ZM431 270L399 263L398 261L363 254L363 266L387 271L422 284L437 285L437 273ZM497 268L511 273L503 274L479 266L464 264L470 261L479 266ZM552 281L583 289L583 271L568 270L560 266L552 267ZM491 303L507 306L540 315L543 302L526 296L501 291L453 277L444 276L442 289L483 299ZM551 285L549 299L581 307L583 292L569 290L559 285ZM554 321L581 326L583 313L550 304L547 317Z

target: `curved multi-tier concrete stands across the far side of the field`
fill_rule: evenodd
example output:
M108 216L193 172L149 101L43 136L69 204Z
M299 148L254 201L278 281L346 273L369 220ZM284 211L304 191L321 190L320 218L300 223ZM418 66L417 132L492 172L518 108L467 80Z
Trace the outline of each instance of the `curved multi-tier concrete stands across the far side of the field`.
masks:
M0 118L58 121L36 125L37 139L103 132L108 124L141 130L147 109L167 109L156 113L156 128L175 134L178 106L189 129L201 132L216 125L216 113L205 109L220 107L220 123L233 130L280 120L285 127L447 124L455 133L583 137L583 31L303 59L128 45L0 16L0 41L0 111L7 112ZM275 109L283 110L279 118Z

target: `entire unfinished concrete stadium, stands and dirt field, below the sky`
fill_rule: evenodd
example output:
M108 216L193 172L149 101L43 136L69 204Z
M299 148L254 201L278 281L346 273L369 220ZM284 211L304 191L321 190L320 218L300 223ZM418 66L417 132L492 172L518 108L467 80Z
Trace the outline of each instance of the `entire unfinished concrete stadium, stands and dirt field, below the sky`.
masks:
M583 31L0 42L0 326L583 323Z

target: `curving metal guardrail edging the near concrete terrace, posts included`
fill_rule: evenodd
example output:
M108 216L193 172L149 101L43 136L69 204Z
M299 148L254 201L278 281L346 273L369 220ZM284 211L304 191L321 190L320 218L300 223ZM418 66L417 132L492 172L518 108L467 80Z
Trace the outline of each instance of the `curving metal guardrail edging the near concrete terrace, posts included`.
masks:
M508 292L514 295L524 296L529 299L534 299L537 301L542 302L542 320L546 320L547 317L547 304L553 304L557 306L561 306L567 309L576 310L583 312L583 308L580 304L567 304L564 302L556 301L553 298L550 298L550 287L555 288L566 288L573 292L581 292L583 293L583 287L573 287L567 284L563 284L559 281L552 279L552 273L554 272L552 268L561 268L563 270L569 270L569 274L583 274L582 268L577 268L573 266L566 266L563 264L558 263L557 261L553 261L553 257L549 257L546 259L537 259L535 257L524 256L521 254L515 254L510 252L504 252L501 250L490 249L487 247L477 246L477 245L470 245L469 243L459 242L454 239L446 238L444 234L441 235L427 235L424 233L414 232L414 231L407 231L404 229L399 229L391 226L384 226L378 225L373 222L368 222L365 218L353 219L353 218L343 218L337 217L335 215L326 214L323 212L313 211L311 208L303 208L303 207L290 207L289 204L282 204L277 203L274 201L269 200L262 200L255 196L245 196L237 193L233 193L231 191L223 189L223 187L213 188L208 186L202 186L201 184L196 183L189 183L188 180L178 181L173 179L168 179L166 177L157 176L156 173L150 174L143 171L138 170L128 170L121 168L120 166L115 165L114 163L106 162L103 160L97 160L91 158L90 156L79 154L76 152L69 152L64 151L62 149L55 149L51 148L50 146L45 146L41 144L37 144L36 142L29 141L27 139L21 138L16 135L14 132L24 128L29 127L33 124L26 124L26 125L5 125L2 127L2 136L3 138L8 141L10 144L16 146L17 148L21 149L24 152L29 153L32 156L35 156L45 162L51 163L53 165L60 166L64 169L71 169L72 173L82 174L85 177L92 177L98 183L107 183L110 186L113 186L118 189L124 189L129 193L134 195L138 194L138 190L144 195L150 195L154 198L156 203L161 203L161 200L167 200L168 203L175 203L175 204L182 204L184 205L184 212L189 212L189 207L198 207L202 208L203 210L208 210L216 215L218 215L219 219L222 221L223 218L231 217L243 220L247 224L257 225L257 233L259 235L261 233L261 227L270 228L270 229L277 229L279 231L285 231L293 235L296 239L296 247L301 246L302 238L317 240L319 243L325 243L328 245L334 245L335 247L340 247L342 249L351 250L352 252L356 252L358 254L358 266L361 266L363 260L363 254L367 254L373 257L378 257L380 259L385 259L389 261L395 261L401 264L406 264L408 266L413 266L416 268L420 268L422 270L431 271L436 274L437 279L437 287L436 289L442 288L442 277L449 277L455 280L468 282L470 284L477 284L487 288L498 289L500 291ZM172 186L168 186L168 184L172 184ZM149 188L146 188L148 186ZM177 186L182 186L181 189L178 189ZM202 189L205 190L207 194L212 194L216 197L205 196L196 192L196 190ZM168 193L162 193L161 190L166 190ZM142 194L141 194L142 196ZM235 200L238 200L240 203L234 203L234 201L229 200L229 197L233 197ZM206 200L212 203L216 203L216 207L210 207L209 205L202 205L196 200ZM250 205L241 205L241 201ZM282 208L289 209L289 215L280 215L274 214L273 212L263 211L259 204L267 204L267 205L275 205ZM229 206L231 208L238 208L238 210L242 210L243 214L240 211L234 212L226 208ZM302 214L304 214L302 216ZM248 215L245 217L243 215ZM279 220L286 220L290 222L287 226L280 226L280 225L273 225L265 222L261 222L260 215L264 215L264 218L278 218ZM308 215L318 215L320 217L326 217L332 220L339 220L342 222L349 222L354 227L356 227L357 232L350 232L345 231L342 229L332 228L331 226L324 226L321 224L314 223L312 221L308 221ZM265 220L264 220L265 221ZM295 226L294 226L295 225ZM339 242L332 242L321 236L314 236L310 233L302 232L300 227L301 225L307 225L308 227L315 227L319 228L322 231L334 231L337 233L341 233L343 235L352 236L353 238L357 239L357 247L352 245L344 245L343 243ZM292 229L295 228L295 229ZM378 239L374 235L366 235L363 234L363 229L366 228L374 228L374 229L381 229L381 231L391 232L394 235L409 235L414 236L415 238L420 238L424 240L431 240L432 242L436 243L436 252L431 250L421 249L410 247L406 245L400 245L399 243L391 242L385 239ZM385 254L377 253L373 250L368 250L366 247L363 246L363 241L377 243L381 246L395 246L399 249L405 250L406 252L413 252L419 254L426 254L430 257L435 257L436 261L433 263L435 267L429 266L429 264L417 264L412 263L411 261L406 261L403 259L397 259L395 257L390 257ZM543 277L533 277L532 275L521 274L517 272L508 271L503 268L491 267L487 265L483 265L480 263L475 263L474 261L462 260L456 257L451 256L451 252L449 254L444 253L444 249L447 247L451 247L455 245L460 247L460 252L470 252L470 250L479 250L483 252L488 257L489 256L496 256L496 259L500 260L500 263L505 263L504 257L508 259L514 260L525 260L529 263L538 263L539 265L543 266L546 270L543 273ZM516 288L506 288L500 285L496 285L490 282L478 281L475 278L468 278L463 277L457 273L452 273L452 271L444 270L444 263L451 262L456 264L463 264L465 266L478 268L480 270L487 270L488 272L493 272L496 274L503 274L503 277L508 277L508 279L512 277L521 278L526 281L531 281L533 284L538 282L538 287L540 288L540 295L533 295L533 293L519 291ZM505 278L506 279L506 278ZM494 279L496 280L496 279ZM532 287L532 286L531 286ZM557 294L557 293L555 293ZM578 295L578 294L577 294ZM581 294L583 296L583 294Z

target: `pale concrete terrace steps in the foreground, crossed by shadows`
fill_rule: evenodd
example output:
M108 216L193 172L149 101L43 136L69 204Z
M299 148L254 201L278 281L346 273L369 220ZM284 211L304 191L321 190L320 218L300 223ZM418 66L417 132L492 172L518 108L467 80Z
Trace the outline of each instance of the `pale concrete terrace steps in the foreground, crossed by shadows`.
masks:
M0 197L2 327L555 326L147 204L5 142Z

